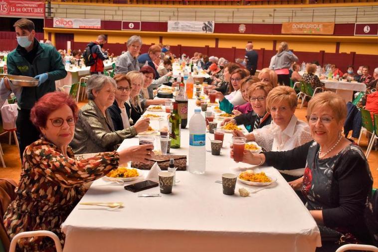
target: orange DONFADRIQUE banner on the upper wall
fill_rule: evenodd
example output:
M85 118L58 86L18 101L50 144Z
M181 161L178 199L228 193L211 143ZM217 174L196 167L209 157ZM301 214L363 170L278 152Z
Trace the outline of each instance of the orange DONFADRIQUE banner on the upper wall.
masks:
M282 34L332 35L335 23L331 22L284 22Z

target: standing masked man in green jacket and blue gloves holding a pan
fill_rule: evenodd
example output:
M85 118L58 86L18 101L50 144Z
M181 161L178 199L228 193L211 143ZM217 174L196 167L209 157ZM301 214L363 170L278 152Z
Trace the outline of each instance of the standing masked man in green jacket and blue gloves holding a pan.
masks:
M59 52L50 45L40 44L34 37L34 23L26 18L17 20L18 46L7 56L8 74L34 77L37 87L23 87L18 103L16 120L19 149L22 154L26 146L39 139L40 132L30 121L30 110L34 103L48 92L55 91L55 80L63 79L67 72Z

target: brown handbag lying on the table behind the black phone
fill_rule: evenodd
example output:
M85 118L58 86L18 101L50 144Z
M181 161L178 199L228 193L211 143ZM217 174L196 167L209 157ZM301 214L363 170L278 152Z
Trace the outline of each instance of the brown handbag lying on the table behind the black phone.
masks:
M177 167L178 171L187 170L187 156L185 155L151 155L148 163L132 162L131 167L141 170L150 170L155 162L158 162L160 169L167 170L171 158L175 159L175 167Z

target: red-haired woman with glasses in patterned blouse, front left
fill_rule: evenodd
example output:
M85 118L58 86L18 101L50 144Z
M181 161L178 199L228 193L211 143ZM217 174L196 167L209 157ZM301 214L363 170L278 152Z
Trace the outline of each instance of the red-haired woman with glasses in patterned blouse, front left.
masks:
M153 145L122 151L103 152L76 160L68 144L77 120L75 101L63 92L40 98L31 109L30 119L42 138L26 147L16 199L10 203L4 226L10 239L24 231L49 230L64 244L60 225L85 193L84 183L99 179L119 164L144 162ZM51 239L33 237L18 244L22 251L55 251Z

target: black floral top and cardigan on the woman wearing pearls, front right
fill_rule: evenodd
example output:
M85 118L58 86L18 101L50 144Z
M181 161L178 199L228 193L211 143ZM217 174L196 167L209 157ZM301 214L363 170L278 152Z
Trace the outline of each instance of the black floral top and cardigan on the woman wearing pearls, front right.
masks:
M328 228L343 228L370 242L364 221L373 178L360 147L349 145L338 155L317 157L319 144L308 142L290 151L265 152L265 165L279 170L306 167L301 191L309 210L322 210ZM332 166L329 166L332 163Z

